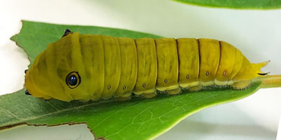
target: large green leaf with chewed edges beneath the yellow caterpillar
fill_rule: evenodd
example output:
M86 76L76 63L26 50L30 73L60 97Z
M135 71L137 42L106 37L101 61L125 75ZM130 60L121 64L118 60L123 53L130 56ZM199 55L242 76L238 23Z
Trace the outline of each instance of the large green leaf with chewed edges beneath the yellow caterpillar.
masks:
M81 34L106 34L125 37L152 37L124 29L52 25L23 21L20 34L11 39L18 43L31 62L48 43L58 40L65 29ZM45 102L25 95L25 89L0 97L0 130L20 124L58 125L63 123L87 123L96 137L105 139L150 139L171 129L192 113L210 106L232 102L249 96L259 89L261 82L253 83L246 90L230 87L207 87L200 92L184 91L169 96L159 94L153 99L133 97L126 102L105 100L102 102Z

